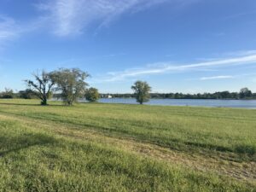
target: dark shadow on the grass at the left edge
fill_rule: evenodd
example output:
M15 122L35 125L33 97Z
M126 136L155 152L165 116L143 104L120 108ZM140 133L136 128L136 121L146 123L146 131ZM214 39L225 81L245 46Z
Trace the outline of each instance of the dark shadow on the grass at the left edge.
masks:
M45 146L55 143L55 138L44 134L26 134L19 137L0 136L0 158L21 149L31 148L32 146Z

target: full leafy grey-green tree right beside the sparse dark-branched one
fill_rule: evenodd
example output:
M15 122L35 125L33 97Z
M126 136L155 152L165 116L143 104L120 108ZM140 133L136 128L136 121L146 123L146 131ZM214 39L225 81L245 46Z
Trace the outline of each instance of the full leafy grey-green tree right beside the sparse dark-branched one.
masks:
M61 99L66 105L78 102L79 97L84 96L85 82L90 75L79 68L61 68L51 73L51 78L56 83L56 91L61 93Z

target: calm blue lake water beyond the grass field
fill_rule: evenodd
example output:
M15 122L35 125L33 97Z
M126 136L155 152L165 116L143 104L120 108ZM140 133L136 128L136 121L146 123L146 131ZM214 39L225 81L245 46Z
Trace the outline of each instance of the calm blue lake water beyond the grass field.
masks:
M103 103L136 104L135 99L100 99ZM256 100L195 100L195 99L151 99L147 105L164 106L201 106L212 108L256 108Z

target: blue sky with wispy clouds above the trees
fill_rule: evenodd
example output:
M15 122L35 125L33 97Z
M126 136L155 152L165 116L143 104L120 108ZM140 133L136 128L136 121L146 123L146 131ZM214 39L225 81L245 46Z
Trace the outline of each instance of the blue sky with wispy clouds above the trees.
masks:
M255 0L1 0L0 90L79 67L101 92L256 92Z

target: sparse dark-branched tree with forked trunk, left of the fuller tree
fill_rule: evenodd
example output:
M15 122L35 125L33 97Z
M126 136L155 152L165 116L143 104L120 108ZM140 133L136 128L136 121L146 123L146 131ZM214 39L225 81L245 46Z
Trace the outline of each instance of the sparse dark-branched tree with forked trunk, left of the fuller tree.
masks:
M34 80L25 80L26 84L33 94L41 100L41 105L47 105L47 100L55 82L51 78L51 74L44 70L41 73L33 73L33 77Z

